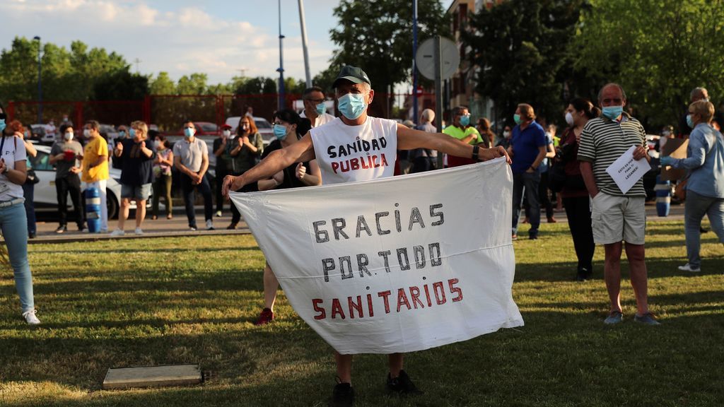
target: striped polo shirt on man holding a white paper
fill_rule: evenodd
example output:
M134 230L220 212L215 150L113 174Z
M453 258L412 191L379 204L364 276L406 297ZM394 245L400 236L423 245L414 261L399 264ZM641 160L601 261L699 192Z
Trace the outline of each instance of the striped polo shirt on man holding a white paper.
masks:
M590 119L581 133L578 146L578 160L593 164L593 175L598 189L614 196L646 196L644 180L641 179L622 193L606 169L613 164L631 146L643 146L646 143L646 130L639 120L623 113L621 122L597 117Z

